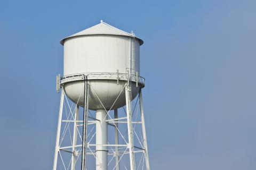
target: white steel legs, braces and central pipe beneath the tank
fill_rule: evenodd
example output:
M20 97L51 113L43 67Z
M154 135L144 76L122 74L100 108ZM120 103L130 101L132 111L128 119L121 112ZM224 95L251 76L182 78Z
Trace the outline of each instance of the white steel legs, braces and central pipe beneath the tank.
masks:
M119 152L119 161L121 160L121 162L123 163L123 160L122 159L124 159L123 158L123 155L124 154L128 154L128 155L130 155L130 168L129 169L131 169L131 170L134 170L134 169L143 169L143 165L144 165L144 163L146 164L146 168L147 169L149 169L149 163L148 163L148 151L147 151L147 138L146 138L146 129L145 129L145 119L144 119L144 114L143 114L143 103L142 103L142 95L141 95L141 91L139 92L139 103L140 103L140 112L141 112L141 122L139 122L139 121L132 121L132 113L134 112L134 109L136 108L136 105L137 105L137 102L136 102L136 104L135 104L135 106L134 106L134 109L133 109L133 111L132 111L132 106L131 106L131 97L130 97L130 91L131 89L130 89L130 86L129 85L127 85L126 84L126 86L125 86L125 92L126 92L126 114L127 114L127 117L118 117L118 115L117 115L117 112L116 112L116 110L114 111L114 117L112 118L110 115L108 115L108 113L107 113L107 111L105 110L105 109L102 109L102 110L100 110L100 111L97 111L98 113L96 113L96 117L94 117L94 116L89 116L91 119L93 119L94 121L94 125L95 126L97 126L97 125L100 125L100 128L99 128L99 126L98 127L96 127L98 130L95 132L95 137L96 138L98 138L98 140L95 140L96 142L94 143L94 142L89 142L89 143L87 143L88 141L86 141L86 138L85 138L85 140L82 140L82 138L81 138L81 133L79 134L80 135L80 138L81 138L81 140L83 141L83 143L87 143L87 150L85 150L85 152L86 152L86 155L87 156L93 156L93 157L96 157L95 158L95 160L98 160L98 163L97 163L97 165L99 165L98 166L98 168L99 169L105 169L104 167L103 167L103 165L104 166L106 166L106 163L107 163L107 160L106 160L106 158L107 158L107 156L106 155L111 155L111 156L113 156L112 158L114 158L114 156L116 156L116 148L126 148L125 150L118 150L118 152ZM69 110L66 110L67 108L65 108L64 110L66 111L66 114L65 113L63 113L63 115L66 115L67 117L70 117L70 118L64 118L63 120L62 120L62 109L63 109L63 96L64 96L64 90L62 89L62 97L61 97L61 104L60 104L60 113L59 113L59 124L58 124L58 131L57 131L57 143L59 143L59 144L57 144L56 145L56 148L57 149L55 149L55 154L57 153L57 155L55 156L55 158L54 158L54 165L57 165L57 159L58 159L58 156L60 157L59 158L59 162L60 162L60 164L62 163L62 167L64 168L64 169L72 169L72 167L74 167L74 165L73 166L69 166L68 165L68 163L65 161L67 158L65 158L65 159L63 159L62 157L63 157L63 155L61 156L61 151L62 151L62 153L63 153L63 151L65 151L65 152L69 152L69 153L71 153L71 154L73 154L73 150L74 150L74 148L75 148L75 150L76 149L78 149L78 156L80 155L80 157L81 157L81 147L82 147L82 145L77 145L77 144L75 144L75 142L74 142L74 140L73 140L73 142L71 142L71 144L70 145L68 145L67 146L67 144L66 144L66 142L65 143L63 143L63 142L61 142L62 140L63 140L63 137L65 137L65 133L63 133L62 134L62 137L61 137L61 140L60 140L60 123L61 122L66 122L66 125L65 125L65 128L64 129L66 129L66 132L67 132L67 130L69 129L69 125L71 124L70 122L73 122L73 123L81 123L81 122L85 122L85 126L87 126L87 124L89 125L90 123L90 121L82 121L82 120L77 120L77 118L78 118L78 115L75 115L76 113L78 113L78 110L77 109L75 109L74 111L72 111L73 110L73 108L72 107L69 107L70 106L70 104L68 104L68 100L65 100L66 101L66 103L65 103L65 105L66 106L68 106L68 109ZM66 96L65 96L65 99L66 99ZM138 100L138 99L137 99ZM77 108L78 106L76 105L75 106L75 108ZM72 113L70 113L70 112L73 112L74 113L74 116L71 116L71 115L67 115L67 113L68 114L72 114ZM85 113L86 113L86 110L85 110ZM135 113L134 113L135 114ZM137 117L138 116L138 109L137 109L137 113L136 113L137 115L135 115L135 117ZM110 117L110 119L108 119L108 116ZM76 118L77 117L77 118ZM127 121L125 121L127 119ZM101 120L101 121L100 121ZM104 120L104 121L102 121L102 120ZM123 121L122 121L123 120ZM137 118L136 118L136 120L137 120ZM98 122L98 124L97 124L97 122ZM102 124L100 123L100 122L102 122L102 124L103 123L105 123L105 125L103 124L103 126L102 126ZM113 145L112 143L108 143L108 140L103 140L103 139L106 139L106 137L107 137L107 135L108 135L108 132L107 132L107 127L106 127L106 124L111 124L111 126L114 126L115 127L115 130L117 130L118 132L119 132L119 134L120 134L120 137L124 137L124 135L126 135L126 134L124 134L124 133L126 133L125 131L123 131L123 132L120 132L120 129L118 129L118 126L116 126L117 125L117 123L119 124L119 123L127 123L127 134L128 134L128 138L129 138L129 140L128 141L126 141L124 138L124 141L125 141L125 145L119 145L119 143L117 143L116 142L116 138L115 138L115 144ZM138 132L137 131L137 133L135 132L135 129L133 130L132 129L132 126L135 126L135 124L137 124L137 123L139 123L139 124L141 124L142 125L142 133L143 133L143 140L142 140L142 137L141 137L141 142L139 142L140 144L141 144L141 146L135 146L134 145L134 143L133 143L133 134L135 134L135 138L137 137L137 139L140 141L140 139L138 138L138 134L140 133L140 131ZM64 126L63 126L64 127ZM65 130L64 130L65 131ZM133 133L133 131L134 131L134 133ZM70 132L69 132L70 133ZM75 132L74 132L75 133ZM79 133L79 131L78 131L78 133ZM68 132L66 133L66 135L68 134ZM86 134L86 133L85 133ZM88 134L88 135L90 135L90 133ZM141 134L142 135L142 134ZM76 135L77 136L77 135ZM90 135L90 136L92 136L92 135ZM117 136L117 135L116 135ZM73 138L74 138L74 134L73 134ZM79 137L78 137L79 138ZM122 139L121 138L121 139ZM92 139L92 138L91 138ZM91 141L91 139L89 139L90 141ZM60 141L60 142L59 142ZM75 140L76 141L76 140ZM85 142L84 142L85 141ZM61 143L62 143L62 145L64 145L64 146L62 146L61 145ZM103 143L103 144L101 144L101 143ZM105 144L104 144L105 143ZM92 151L92 148L90 149L90 147L96 147L96 150L97 151ZM112 149L112 147L114 147L115 149ZM80 149L79 149L80 148ZM70 151L70 149L71 149L71 151ZM107 151L107 149L109 149L108 151ZM128 150L127 150L128 149ZM102 152L104 152L105 151L105 153L103 153L102 154ZM97 152L100 152L101 154L99 154L99 155L97 155ZM107 154L106 154L107 153ZM135 162L135 157L134 157L134 155L135 154L139 154L139 153L141 153L141 154L143 154L142 156L141 156L141 158L142 159L140 159L140 162L139 162L139 160L137 160L137 162ZM70 158L70 157L69 157ZM76 158L76 160L78 159L78 157ZM64 160L64 162L63 162L63 160ZM114 159L115 160L115 159ZM70 163L72 163L72 161L73 161L73 158L71 157L71 161L70 161ZM65 163L66 162L66 163ZM105 162L105 163L104 163ZM66 165L64 165L64 164L66 164ZM103 165L102 165L103 164ZM140 166L140 164L141 164L141 166ZM117 163L116 162L116 165L119 165L119 162ZM123 167L125 166L123 166L124 164L120 164L120 166L122 166L121 168L123 169ZM61 166L61 165L60 165ZM69 168L68 168L69 167ZM84 168L83 169L86 169L85 168L86 166L85 166L85 164L84 164ZM145 167L145 166L144 166ZM59 167L60 168L60 167ZM58 169L59 169L58 168ZM55 169L57 169L56 168L56 166L55 166ZM54 169L54 170L55 170ZM114 169L117 169L117 166L115 166L114 167ZM125 167L125 169L127 169L127 167Z

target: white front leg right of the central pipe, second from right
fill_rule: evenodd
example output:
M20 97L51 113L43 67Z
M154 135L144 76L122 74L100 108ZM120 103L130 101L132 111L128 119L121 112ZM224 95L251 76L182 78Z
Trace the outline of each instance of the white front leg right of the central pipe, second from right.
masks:
M132 111L131 111L131 87L126 84L125 87L126 114L127 114L127 130L128 130L128 148L130 155L130 168L135 170L134 146L133 146L133 129L132 129Z

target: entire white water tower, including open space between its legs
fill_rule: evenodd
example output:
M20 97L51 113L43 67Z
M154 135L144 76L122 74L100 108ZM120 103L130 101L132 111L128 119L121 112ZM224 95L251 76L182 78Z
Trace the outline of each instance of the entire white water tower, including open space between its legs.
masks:
M53 170L149 169L143 41L101 21L60 43L64 70L57 76L61 98Z

